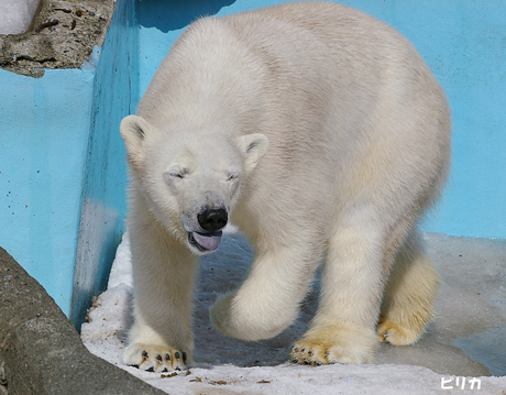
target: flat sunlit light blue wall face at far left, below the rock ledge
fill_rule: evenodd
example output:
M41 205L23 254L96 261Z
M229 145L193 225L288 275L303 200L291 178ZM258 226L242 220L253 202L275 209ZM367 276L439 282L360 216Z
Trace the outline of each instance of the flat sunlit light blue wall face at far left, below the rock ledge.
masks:
M0 69L0 245L69 312L95 70Z

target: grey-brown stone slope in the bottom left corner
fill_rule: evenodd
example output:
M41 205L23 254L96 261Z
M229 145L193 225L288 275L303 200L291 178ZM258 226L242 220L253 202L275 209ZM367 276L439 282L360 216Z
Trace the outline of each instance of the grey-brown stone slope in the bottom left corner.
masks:
M0 394L163 394L90 354L44 288L0 248Z

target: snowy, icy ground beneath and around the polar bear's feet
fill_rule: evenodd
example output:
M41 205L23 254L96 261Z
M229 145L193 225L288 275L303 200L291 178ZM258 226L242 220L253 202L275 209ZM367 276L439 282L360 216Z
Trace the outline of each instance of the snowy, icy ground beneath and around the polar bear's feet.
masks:
M287 362L287 353L312 317L317 290L306 298L299 319L274 339L241 342L211 327L209 306L218 293L241 283L252 257L234 229L226 234L219 250L201 260L194 320L196 367L172 375L121 365L131 325L128 235L118 249L109 288L95 300L90 322L81 328L90 352L169 394L505 394L506 342L497 339L506 332L504 242L427 234L443 284L438 318L422 340L411 347L382 345L376 364L304 366Z

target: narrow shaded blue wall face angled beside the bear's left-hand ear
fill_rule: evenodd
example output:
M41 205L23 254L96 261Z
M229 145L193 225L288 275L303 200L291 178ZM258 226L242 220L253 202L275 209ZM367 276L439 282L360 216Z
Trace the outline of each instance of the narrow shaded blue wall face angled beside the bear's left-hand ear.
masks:
M135 17L134 1L117 2L96 70L70 309L76 326L91 297L106 288L124 232L127 153L119 131L139 97Z

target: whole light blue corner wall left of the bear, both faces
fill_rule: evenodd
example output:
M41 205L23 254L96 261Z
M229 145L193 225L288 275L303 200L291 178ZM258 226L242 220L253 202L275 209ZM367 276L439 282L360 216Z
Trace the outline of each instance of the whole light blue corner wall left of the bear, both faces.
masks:
M119 0L102 48L40 79L0 69L0 245L79 325L124 231L119 132L138 92L135 0Z

